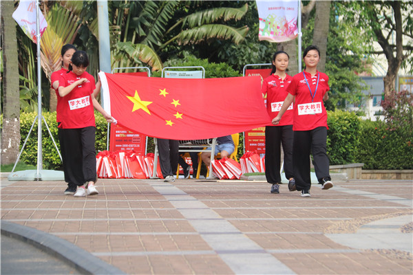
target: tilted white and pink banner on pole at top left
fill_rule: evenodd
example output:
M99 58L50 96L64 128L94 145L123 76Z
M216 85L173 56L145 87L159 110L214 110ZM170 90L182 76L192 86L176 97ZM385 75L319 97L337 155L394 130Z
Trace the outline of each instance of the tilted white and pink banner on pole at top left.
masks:
M13 19L16 20L23 32L25 32L34 43L37 43L36 8L39 9L40 35L42 35L47 28L47 22L40 8L36 6L36 1L20 0L19 7L17 7L12 14Z

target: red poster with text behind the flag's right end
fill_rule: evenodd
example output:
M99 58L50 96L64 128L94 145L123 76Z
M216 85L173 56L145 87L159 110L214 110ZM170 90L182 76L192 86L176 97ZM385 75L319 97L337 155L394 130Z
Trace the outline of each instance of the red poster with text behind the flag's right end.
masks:
M261 76L262 80L271 74L271 69L246 69L245 76ZM264 97L266 104L266 95ZM257 151L260 157L265 154L265 127L246 131L244 135L245 151Z

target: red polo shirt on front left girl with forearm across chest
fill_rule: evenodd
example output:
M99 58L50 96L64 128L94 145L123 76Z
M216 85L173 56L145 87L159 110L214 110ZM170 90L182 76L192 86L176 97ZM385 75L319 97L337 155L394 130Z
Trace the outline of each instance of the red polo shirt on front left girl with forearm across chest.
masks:
M84 128L95 126L92 93L96 88L94 77L84 72L77 76L74 72L62 74L59 79L59 87L67 87L81 78L87 78L87 82L75 87L69 94L62 98L61 126L63 129Z

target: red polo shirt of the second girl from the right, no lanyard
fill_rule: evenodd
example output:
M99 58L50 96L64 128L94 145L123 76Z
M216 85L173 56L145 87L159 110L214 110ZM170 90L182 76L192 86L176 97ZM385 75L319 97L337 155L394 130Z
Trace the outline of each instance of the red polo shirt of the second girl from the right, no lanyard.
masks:
M287 87L288 85L290 85L292 79L293 77L288 76L288 74L286 75L286 78L284 78L284 80L279 76L275 76L274 74L271 74L271 76L268 76L264 79L261 91L262 94L267 95L266 105L268 115L270 115L271 119L275 118L278 115L279 110L282 107L282 103L288 95ZM292 103L288 110L284 113L284 115L282 115L282 118L279 121L279 124L277 124L277 126L293 124L293 105L294 103Z

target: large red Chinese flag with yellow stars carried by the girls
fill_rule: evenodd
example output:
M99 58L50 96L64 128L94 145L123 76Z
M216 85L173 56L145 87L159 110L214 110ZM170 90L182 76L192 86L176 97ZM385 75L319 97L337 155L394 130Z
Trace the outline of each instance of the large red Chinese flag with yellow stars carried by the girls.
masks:
M259 76L147 78L100 72L105 110L151 137L200 140L268 125Z

